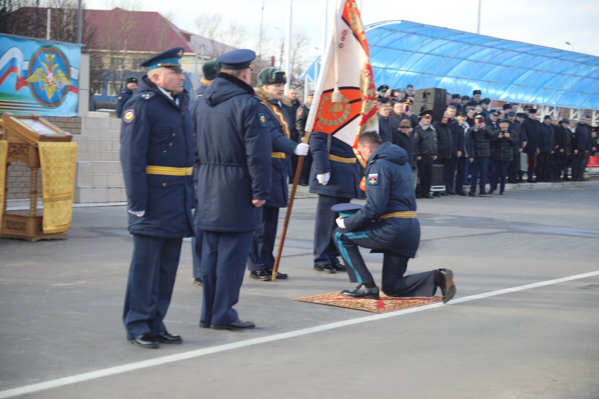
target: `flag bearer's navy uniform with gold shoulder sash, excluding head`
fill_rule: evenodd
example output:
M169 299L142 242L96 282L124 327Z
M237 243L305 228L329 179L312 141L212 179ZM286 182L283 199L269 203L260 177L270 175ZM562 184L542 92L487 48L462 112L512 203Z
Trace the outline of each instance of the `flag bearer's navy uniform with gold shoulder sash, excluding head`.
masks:
M287 206L291 155L298 144L287 137L291 126L288 123L289 117L286 110L281 108L279 102L272 99L264 90L255 90L258 96L263 99L262 109L267 114L268 129L273 140L273 153L271 154L270 197L262 207L262 226L252 236L247 269L250 272L267 270L270 273L270 270L274 267L273 249L277 234L277 223L279 222L279 208ZM265 100L274 107L273 111L271 111L269 105L264 104ZM277 112L278 117L273 112ZM279 121L279 118L282 118L282 120ZM285 126L282 124L285 124ZM287 130L288 133L283 134L283 130ZM251 273L250 276L252 276ZM278 273L277 278L287 278L287 275Z

